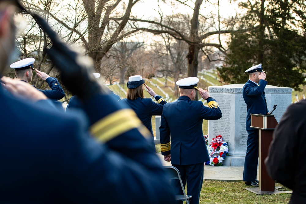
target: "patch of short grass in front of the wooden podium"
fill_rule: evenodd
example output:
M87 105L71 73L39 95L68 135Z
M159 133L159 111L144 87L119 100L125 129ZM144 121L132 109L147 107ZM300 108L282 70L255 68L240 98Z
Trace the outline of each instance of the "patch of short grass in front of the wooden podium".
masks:
M277 184L282 186L281 184ZM247 188L244 181L204 180L200 194L200 204L261 204L288 203L291 194L256 195ZM290 191L286 188L284 190Z

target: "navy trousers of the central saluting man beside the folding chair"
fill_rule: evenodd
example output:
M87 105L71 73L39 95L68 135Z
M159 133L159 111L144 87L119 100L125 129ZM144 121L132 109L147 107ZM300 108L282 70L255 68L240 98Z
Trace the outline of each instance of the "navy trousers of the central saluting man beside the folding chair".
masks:
M184 188L187 182L187 194L192 195L192 198L189 199L190 204L199 204L200 202L200 192L203 184L203 174L204 174L204 163L192 164L192 165L175 165L182 177L182 182ZM176 194L182 195L182 187L180 181L175 179L173 181L175 185ZM177 201L177 204L182 204L183 201Z

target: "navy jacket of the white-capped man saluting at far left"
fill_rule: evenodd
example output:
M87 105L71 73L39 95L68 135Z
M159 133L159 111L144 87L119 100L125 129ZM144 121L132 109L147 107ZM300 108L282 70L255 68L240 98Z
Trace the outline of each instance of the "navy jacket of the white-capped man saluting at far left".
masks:
M65 97L65 92L62 86L58 83L58 80L56 78L48 77L46 79L46 82L49 84L49 87L51 88L51 90L38 89L39 91L43 92L48 98L54 99L54 100L60 100Z

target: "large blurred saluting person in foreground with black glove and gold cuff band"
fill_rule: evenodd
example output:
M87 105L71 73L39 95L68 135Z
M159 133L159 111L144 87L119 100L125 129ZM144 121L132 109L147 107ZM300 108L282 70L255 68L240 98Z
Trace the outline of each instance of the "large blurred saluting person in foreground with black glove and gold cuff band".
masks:
M0 74L14 49L14 5L21 7L17 0L0 0ZM161 162L145 139L151 135L136 114L99 86L92 61L31 15L49 36L47 54L84 104L91 127L89 133L83 118L47 105L52 102L30 84L3 77L0 203L173 203Z

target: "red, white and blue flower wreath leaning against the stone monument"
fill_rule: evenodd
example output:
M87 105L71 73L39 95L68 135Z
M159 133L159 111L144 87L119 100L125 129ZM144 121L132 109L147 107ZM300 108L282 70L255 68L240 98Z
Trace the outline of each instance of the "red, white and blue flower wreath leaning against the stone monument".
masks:
M221 135L216 136L211 140L211 143L208 145L208 135L204 135L206 147L208 150L210 161L205 162L205 165L218 165L222 166L223 161L229 153L229 148L227 143L224 142Z

